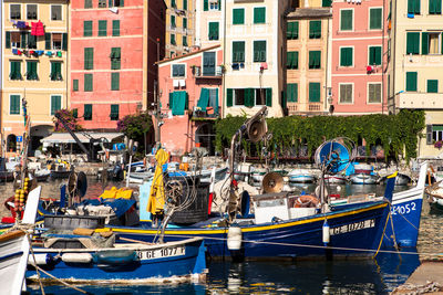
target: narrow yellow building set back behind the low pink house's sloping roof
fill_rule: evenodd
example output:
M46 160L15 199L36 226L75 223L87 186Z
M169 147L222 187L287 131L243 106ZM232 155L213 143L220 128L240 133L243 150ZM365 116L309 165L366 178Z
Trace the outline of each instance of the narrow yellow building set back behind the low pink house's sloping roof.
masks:
M165 0L165 3L166 57L188 53L194 45L194 0Z

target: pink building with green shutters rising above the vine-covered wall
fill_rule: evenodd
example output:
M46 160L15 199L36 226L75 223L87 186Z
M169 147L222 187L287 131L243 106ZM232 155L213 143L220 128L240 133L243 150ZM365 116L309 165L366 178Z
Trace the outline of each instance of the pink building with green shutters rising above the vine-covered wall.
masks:
M333 1L329 99L334 115L387 110L387 54L383 54L388 51L387 3Z

